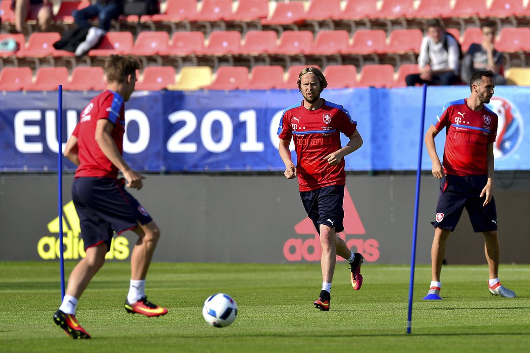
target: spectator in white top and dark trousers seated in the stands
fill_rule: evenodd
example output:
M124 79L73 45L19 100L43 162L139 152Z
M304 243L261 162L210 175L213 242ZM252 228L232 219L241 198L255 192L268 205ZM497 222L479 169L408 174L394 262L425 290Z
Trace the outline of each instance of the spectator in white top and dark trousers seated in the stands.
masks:
M427 36L421 42L419 74L405 77L407 86L416 84L452 85L458 81L460 44L436 19L427 21Z

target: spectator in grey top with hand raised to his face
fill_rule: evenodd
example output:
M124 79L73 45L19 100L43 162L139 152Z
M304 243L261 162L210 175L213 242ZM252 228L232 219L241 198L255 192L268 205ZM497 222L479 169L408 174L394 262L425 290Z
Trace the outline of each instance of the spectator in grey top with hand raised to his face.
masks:
M469 82L471 74L478 70L492 70L495 74L496 85L505 85L506 78L501 73L504 65L504 56L495 50L495 36L497 28L493 21L486 21L480 26L482 30L482 43L473 43L467 49L462 60L460 77L463 82Z

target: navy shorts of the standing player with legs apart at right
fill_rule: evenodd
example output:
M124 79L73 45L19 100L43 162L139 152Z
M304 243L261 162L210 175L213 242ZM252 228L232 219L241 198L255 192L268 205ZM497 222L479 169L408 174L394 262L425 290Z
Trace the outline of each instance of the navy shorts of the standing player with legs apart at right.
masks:
M495 200L492 198L491 202L484 207L482 205L486 197L480 197L487 181L487 175L473 177L446 175L441 178L435 222L431 222L431 224L436 228L454 231L465 207L473 231L476 233L496 231L497 208L495 207Z

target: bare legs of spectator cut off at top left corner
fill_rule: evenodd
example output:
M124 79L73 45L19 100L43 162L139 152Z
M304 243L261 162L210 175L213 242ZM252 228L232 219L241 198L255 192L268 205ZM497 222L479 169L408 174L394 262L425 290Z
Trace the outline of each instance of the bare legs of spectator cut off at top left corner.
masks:
M37 19L41 32L47 32L51 27L54 12L48 0L12 0L11 9L15 12L15 29L19 33L22 33L28 17Z

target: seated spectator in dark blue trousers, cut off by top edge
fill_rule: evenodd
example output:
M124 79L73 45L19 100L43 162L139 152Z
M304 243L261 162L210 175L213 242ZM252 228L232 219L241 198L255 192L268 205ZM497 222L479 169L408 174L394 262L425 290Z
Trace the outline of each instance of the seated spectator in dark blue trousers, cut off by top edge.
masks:
M92 17L98 17L99 28L108 32L110 21L118 19L122 10L122 0L96 0L93 5L74 11L72 16L80 28L88 26Z

